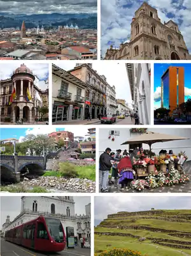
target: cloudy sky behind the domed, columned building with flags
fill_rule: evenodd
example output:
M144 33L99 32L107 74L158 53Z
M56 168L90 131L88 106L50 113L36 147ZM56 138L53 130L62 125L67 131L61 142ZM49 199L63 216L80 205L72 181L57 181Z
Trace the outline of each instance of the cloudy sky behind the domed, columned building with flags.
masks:
M1 1L0 1L0 11L1 11ZM1 63L0 64L0 80L10 79L13 75L13 71L19 68L21 64L26 64L33 75L36 75L39 79L38 84L36 84L40 89L45 90L47 84L45 81L48 79L48 63L38 64L38 63L23 63L23 61L13 61L11 63Z

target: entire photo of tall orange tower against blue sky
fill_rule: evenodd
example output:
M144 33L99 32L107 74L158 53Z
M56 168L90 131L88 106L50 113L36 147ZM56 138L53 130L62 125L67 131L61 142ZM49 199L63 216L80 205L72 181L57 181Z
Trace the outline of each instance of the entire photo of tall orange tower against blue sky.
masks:
M154 123L191 124L190 64L155 64Z

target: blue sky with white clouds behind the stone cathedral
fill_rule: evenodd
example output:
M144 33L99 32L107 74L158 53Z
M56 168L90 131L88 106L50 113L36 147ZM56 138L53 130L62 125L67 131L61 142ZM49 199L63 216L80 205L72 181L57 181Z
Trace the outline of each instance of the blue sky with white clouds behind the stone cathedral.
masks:
M101 50L102 55L109 45L118 47L131 34L134 12L143 2L158 10L164 23L173 20L179 26L188 50L191 52L191 1L190 0L101 0Z

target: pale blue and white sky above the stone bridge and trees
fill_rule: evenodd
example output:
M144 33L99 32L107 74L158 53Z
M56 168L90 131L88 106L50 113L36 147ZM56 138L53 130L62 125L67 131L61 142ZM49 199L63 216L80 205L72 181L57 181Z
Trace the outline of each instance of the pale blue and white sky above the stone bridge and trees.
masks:
M92 126L88 127L92 128ZM38 134L48 134L52 132L58 132L59 130L65 130L68 132L73 132L74 136L82 136L88 134L87 127L83 125L79 125L78 129L74 125L70 126L67 125L66 128L56 128L55 126L46 126L46 129L42 129L39 126L34 128L1 128L1 139L8 139L10 138L10 134L12 138L18 139L19 142L22 142L24 137L29 134L38 135ZM87 136L88 138L88 136Z

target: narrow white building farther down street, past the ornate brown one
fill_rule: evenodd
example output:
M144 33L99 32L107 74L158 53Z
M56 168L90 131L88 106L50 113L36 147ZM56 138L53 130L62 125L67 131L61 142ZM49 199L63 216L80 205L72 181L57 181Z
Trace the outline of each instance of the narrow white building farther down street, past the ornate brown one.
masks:
M116 114L117 102L116 102L116 92L115 86L107 86L107 114Z

